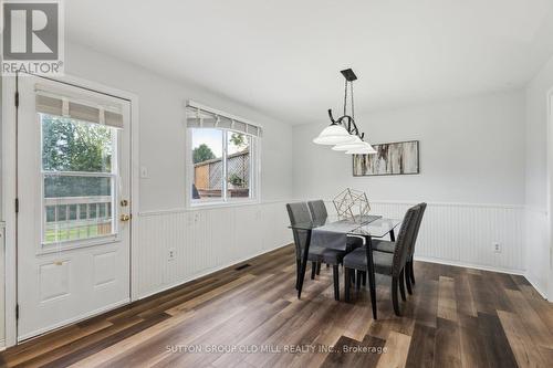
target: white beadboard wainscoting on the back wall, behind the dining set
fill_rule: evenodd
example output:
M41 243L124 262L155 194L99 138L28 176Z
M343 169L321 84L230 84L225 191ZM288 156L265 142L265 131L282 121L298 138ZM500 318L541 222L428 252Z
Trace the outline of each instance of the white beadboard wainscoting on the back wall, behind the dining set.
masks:
M371 213L401 219L416 202L371 202ZM332 209L332 201L327 202ZM397 232L396 232L397 234ZM415 250L420 261L523 274L522 206L428 203ZM494 251L499 243L500 252Z

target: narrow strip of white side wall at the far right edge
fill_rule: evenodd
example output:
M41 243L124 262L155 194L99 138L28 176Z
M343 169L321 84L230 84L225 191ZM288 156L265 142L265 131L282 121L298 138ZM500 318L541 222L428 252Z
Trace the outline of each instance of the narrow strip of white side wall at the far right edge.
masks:
M553 88L553 59L526 87L525 224L529 280L553 295L547 220L547 92Z

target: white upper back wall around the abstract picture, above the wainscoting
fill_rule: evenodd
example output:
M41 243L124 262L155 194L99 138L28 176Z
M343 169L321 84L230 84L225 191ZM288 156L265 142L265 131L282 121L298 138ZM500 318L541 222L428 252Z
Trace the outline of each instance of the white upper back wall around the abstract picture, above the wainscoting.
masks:
M357 105L362 105L357 102ZM294 126L294 194L332 198L342 188L371 200L524 203L524 95L479 95L358 114L371 143L420 141L420 175L353 177L352 157L312 144L326 125Z

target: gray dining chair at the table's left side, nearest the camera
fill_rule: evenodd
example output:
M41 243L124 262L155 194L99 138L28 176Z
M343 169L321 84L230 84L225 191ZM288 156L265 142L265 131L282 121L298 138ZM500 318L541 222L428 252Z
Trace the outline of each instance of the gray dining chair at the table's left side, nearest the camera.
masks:
M290 223L296 224L301 222L311 222L312 217L307 203L296 202L286 204L288 215L290 218ZM296 262L296 282L295 286L299 287L299 281L302 276L301 264L303 250L305 249L305 243L307 241L307 230L292 229L294 235L295 244L295 262ZM323 246L310 246L307 254L307 261L311 261L311 278L315 277L315 272L321 263L327 263L333 266L334 273L334 298L340 299L340 284L338 284L338 264L342 263L342 259L345 255L345 251L326 249Z

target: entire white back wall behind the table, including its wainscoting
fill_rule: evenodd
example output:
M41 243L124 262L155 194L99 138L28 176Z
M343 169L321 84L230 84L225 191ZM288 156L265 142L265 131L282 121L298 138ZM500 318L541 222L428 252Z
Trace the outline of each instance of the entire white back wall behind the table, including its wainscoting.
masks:
M351 187L368 193L375 213L396 217L427 201L417 256L523 272L523 91L358 114L371 143L419 140L420 175L353 177L351 156L311 143L321 120L294 126L295 198Z

